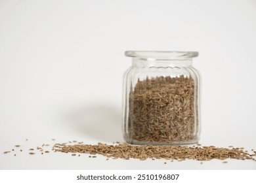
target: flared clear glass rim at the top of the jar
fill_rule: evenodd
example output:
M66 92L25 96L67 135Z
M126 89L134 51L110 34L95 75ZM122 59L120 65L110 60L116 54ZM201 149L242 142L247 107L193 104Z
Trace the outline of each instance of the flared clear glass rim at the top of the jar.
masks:
M186 59L195 58L198 52L180 51L126 51L125 56L141 59Z

